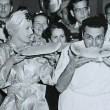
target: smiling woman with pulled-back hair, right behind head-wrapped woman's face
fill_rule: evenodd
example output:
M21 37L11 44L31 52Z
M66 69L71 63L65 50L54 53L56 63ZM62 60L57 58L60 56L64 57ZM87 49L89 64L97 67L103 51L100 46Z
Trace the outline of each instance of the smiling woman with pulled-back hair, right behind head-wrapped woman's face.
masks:
M34 45L43 45L46 40L42 37L43 31L49 25L49 18L46 14L39 12L34 14L33 18L33 30L34 30Z

